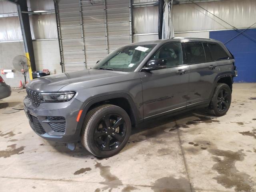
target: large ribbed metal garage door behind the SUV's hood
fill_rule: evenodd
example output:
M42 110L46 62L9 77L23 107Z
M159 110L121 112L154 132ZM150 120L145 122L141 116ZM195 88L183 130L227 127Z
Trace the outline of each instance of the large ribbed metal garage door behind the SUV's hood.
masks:
M90 68L132 42L130 1L58 0L56 14L63 71Z

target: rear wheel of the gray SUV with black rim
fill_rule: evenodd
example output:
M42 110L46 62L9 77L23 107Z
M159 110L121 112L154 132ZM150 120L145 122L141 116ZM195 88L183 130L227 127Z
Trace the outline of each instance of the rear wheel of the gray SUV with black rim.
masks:
M230 87L224 83L218 83L215 87L212 100L206 109L210 115L223 116L228 112L231 104L232 92Z

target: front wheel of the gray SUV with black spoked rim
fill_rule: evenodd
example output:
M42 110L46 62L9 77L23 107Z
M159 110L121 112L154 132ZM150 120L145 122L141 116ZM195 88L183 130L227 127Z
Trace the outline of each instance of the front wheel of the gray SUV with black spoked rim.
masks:
M131 120L122 108L106 104L88 112L81 134L82 145L94 156L118 154L131 134Z

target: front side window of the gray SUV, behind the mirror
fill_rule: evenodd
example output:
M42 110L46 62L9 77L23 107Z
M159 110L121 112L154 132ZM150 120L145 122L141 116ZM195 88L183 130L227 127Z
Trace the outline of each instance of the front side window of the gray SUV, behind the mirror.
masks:
M152 59L166 59L167 67L182 65L181 44L169 43L162 46Z

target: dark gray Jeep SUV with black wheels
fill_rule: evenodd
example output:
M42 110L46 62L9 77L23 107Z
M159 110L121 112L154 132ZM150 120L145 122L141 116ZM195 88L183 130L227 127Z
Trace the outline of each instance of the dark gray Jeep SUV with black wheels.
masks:
M131 127L160 116L230 107L234 57L219 41L172 38L128 44L87 70L45 76L26 86L24 109L42 138L117 154Z

